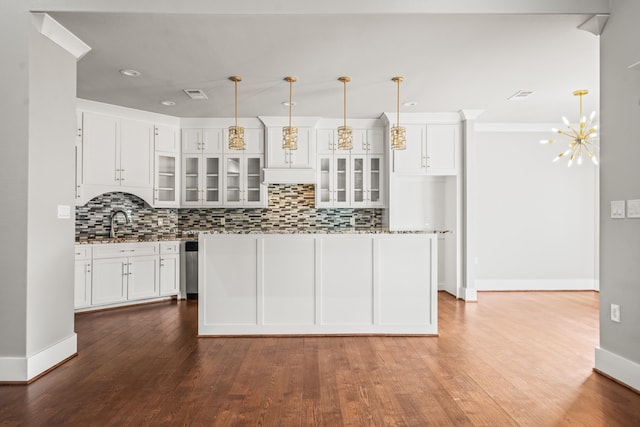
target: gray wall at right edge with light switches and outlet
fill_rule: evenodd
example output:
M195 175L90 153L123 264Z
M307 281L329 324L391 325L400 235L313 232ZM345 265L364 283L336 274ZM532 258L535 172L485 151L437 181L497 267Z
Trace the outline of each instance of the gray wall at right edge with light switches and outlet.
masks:
M640 363L640 219L610 218L612 200L640 199L640 2L614 0L601 36L600 347ZM620 304L621 323L610 320Z

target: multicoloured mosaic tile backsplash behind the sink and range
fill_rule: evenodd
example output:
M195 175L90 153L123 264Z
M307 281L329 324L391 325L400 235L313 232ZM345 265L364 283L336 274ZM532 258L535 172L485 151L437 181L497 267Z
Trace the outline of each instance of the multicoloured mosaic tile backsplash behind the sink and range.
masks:
M316 209L314 191L311 184L271 184L265 209L154 209L132 194L106 193L76 207L76 240L108 238L115 209L125 210L131 219L125 223L122 216L117 218L117 237L131 239L170 239L215 230L335 230L350 228L352 217L359 228L382 226L382 209Z

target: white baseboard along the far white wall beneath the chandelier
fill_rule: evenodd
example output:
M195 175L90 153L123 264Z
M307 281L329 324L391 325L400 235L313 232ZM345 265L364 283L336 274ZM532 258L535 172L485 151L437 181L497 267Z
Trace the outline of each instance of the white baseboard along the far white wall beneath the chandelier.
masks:
M475 280L479 291L594 291L594 279L484 279Z

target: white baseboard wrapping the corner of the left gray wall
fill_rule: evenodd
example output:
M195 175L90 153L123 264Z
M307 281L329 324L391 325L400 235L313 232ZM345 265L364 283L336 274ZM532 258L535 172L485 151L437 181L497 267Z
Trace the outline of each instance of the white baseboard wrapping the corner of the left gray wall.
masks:
M78 352L78 336L68 338L29 357L0 357L0 382L28 382Z

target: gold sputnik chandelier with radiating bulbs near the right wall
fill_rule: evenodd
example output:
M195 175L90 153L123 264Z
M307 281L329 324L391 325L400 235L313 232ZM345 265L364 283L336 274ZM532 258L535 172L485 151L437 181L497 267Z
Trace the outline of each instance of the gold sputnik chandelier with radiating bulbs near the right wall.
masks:
M589 118L582 115L582 97L588 94L589 91L585 89L576 90L573 92L574 96L580 97L580 123L577 127L573 126L569 119L566 117L562 118L563 123L567 126L568 130L561 130L553 128L552 132L558 133L560 135L564 135L569 138L569 148L566 151L558 154L558 156L553 159L554 162L557 162L563 157L569 157L569 163L567 166L571 167L573 161L575 160L579 165L582 164L582 156L588 156L594 165L598 164L598 158L596 156L596 150L598 146L594 142L594 139L598 136L596 130L598 129L598 125L593 124L593 119L596 117L596 112L592 112ZM553 139L543 139L540 141L542 144L552 144L554 142Z

